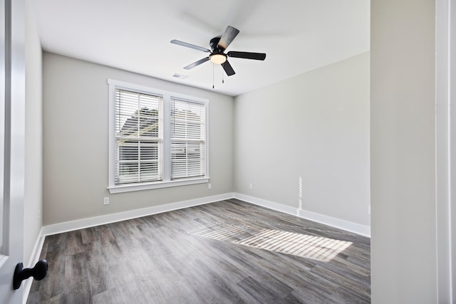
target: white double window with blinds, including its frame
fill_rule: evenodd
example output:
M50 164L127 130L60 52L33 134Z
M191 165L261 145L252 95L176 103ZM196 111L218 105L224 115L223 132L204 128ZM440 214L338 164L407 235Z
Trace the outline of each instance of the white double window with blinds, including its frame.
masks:
M208 182L209 101L108 80L110 193Z

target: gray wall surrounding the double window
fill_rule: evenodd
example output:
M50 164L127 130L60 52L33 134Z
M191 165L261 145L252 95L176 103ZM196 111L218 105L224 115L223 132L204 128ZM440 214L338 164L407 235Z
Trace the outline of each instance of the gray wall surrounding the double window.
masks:
M108 78L209 99L212 189L196 184L109 194ZM233 104L226 95L43 53L43 224L232 192ZM108 206L103 196L110 196Z

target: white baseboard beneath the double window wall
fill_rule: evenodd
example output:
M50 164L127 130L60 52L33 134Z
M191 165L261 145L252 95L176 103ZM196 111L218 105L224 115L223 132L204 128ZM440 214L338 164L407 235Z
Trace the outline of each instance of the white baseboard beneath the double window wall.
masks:
M43 226L43 235L50 236L52 234L61 234L67 231L84 229L93 226L114 223L116 221L125 221L127 219L136 219L141 216L159 214L162 212L183 209L191 206L213 203L214 201L223 201L224 199L232 199L234 194L219 194L214 196L206 196L200 199L190 199L187 201L178 201L176 203L163 204L160 206L152 206L143 209L135 209L124 211L116 214L106 214L103 216L94 216L87 219L78 219L76 221L66 221L63 223Z

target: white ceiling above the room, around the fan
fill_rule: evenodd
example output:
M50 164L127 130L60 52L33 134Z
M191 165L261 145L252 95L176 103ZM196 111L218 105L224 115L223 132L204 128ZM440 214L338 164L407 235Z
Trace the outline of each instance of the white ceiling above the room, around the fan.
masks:
M369 0L33 1L44 51L233 96L369 51ZM224 83L210 61L184 70L207 53L170 41L209 48L228 25L240 33L227 51L266 60L229 58Z

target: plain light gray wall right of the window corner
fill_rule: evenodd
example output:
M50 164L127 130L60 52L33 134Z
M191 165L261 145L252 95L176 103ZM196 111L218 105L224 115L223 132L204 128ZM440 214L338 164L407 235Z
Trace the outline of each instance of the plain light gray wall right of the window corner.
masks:
M370 225L369 53L240 95L234 120L235 192Z

